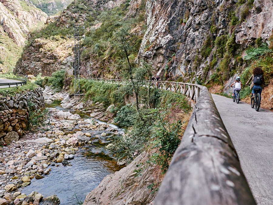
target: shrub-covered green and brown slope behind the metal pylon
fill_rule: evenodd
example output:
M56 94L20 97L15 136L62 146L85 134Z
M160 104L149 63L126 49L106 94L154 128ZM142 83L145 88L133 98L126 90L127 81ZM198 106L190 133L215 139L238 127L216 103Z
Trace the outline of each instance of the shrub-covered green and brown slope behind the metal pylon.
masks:
M131 23L131 18L125 19L129 5L124 1L113 2L108 0L73 2L62 14L49 18L48 25L44 29L30 35L30 46L24 51L22 60L18 63L15 72L20 74L38 74L41 72L43 75L50 75L58 67L64 65L57 57L60 54L58 50L66 52L64 59L73 59L73 50L67 49L66 46L72 46L74 40L73 38L68 39L66 36L74 34L74 30L73 28L66 28L66 26L78 24L86 28L79 31L80 35L86 37L82 40L82 46L85 46L86 49L81 50L82 68L80 74L83 76L99 76L104 70L108 70L109 76L113 77L113 73L117 73L114 59L116 59L115 55L118 56L118 54L111 48L110 41L116 29ZM140 35L143 34L140 31ZM59 38L66 40L63 49L51 49L49 51L48 46L43 47L44 44L37 44L38 41L46 40L51 41L52 48L59 48L59 40L56 40ZM141 40L136 46L135 57L140 43ZM32 62L36 63L31 65ZM72 69L72 63L70 61L66 70ZM104 74L107 75L107 72Z

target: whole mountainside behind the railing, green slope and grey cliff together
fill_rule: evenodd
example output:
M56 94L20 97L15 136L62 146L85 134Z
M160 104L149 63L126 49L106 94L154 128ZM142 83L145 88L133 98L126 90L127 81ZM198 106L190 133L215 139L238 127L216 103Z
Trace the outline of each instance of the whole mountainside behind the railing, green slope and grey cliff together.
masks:
M81 0L51 19L46 29L33 34L31 42L56 35L65 38L72 34L66 25L84 25L86 30L81 34L86 37L82 41L86 49L81 53L80 74L85 77L120 77L122 56L112 47L111 41L117 29L130 26L133 35L130 44L134 47L130 53L131 62L141 59L151 62L153 73L163 80L224 85L219 92L229 93L235 75L242 75L245 83L255 66L265 70L266 84L271 86L273 67L268 65L273 62L272 13L272 0L131 0L130 3ZM39 46L35 45L32 47L41 56ZM69 53L72 56L73 51ZM25 52L18 66L19 73L29 74L30 63L27 62L32 62L32 57ZM47 59L50 60L51 56ZM42 63L39 57L35 61ZM56 62L34 66L31 72L53 72L51 67ZM245 97L250 90L245 89L243 93Z

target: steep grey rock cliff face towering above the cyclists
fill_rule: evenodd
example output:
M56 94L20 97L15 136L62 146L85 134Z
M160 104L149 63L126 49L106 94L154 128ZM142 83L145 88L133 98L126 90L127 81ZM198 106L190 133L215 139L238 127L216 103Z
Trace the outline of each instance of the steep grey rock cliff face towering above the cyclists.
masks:
M205 67L213 61L213 53L218 49L211 43L211 50L201 56L207 38L214 40L234 35L234 45L238 48L234 52L236 56L247 46L253 46L256 39L268 42L272 35L272 0L241 2L242 5L237 1L148 0L147 31L139 58L152 62L162 77L166 72L174 80L182 76L187 81L191 73L209 78L222 56L217 56L208 76L204 76ZM229 64L235 66L234 58Z

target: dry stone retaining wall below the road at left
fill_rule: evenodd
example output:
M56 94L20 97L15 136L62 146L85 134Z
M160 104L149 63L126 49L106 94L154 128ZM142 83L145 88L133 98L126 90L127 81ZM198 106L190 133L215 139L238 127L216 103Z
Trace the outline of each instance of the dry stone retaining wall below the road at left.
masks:
M44 107L41 88L12 97L0 96L0 145L17 141L27 129L29 111Z

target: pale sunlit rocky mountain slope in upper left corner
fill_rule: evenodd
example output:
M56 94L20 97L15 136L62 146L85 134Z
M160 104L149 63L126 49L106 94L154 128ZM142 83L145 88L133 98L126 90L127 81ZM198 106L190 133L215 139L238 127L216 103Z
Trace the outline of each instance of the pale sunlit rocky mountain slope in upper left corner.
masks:
M5 70L15 67L28 32L47 19L46 13L21 0L0 1L0 56Z

